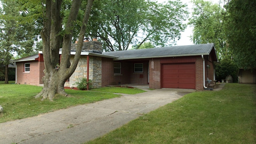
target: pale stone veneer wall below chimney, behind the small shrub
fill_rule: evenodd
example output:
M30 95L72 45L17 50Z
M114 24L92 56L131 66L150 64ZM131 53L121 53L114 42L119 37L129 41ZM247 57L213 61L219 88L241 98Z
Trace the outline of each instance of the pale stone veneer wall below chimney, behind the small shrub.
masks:
M70 63L72 63L74 57L71 56ZM89 79L92 80L92 88L101 87L101 57L89 56ZM65 86L76 87L74 84L78 78L87 78L87 56L81 56L76 67L76 70L70 76L69 82L65 83Z

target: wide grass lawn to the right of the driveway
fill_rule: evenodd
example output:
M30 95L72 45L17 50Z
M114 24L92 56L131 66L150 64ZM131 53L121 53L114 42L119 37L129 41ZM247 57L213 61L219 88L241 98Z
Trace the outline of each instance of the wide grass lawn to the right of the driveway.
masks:
M86 144L256 144L256 85L187 94Z

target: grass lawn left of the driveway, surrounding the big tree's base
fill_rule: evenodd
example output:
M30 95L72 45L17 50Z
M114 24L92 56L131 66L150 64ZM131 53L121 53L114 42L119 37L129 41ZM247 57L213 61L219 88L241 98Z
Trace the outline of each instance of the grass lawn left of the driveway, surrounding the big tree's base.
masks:
M41 90L42 87L39 86L4 84L4 82L1 82L0 105L4 108L4 112L0 113L0 123L120 96L119 94L106 92L66 90L70 97L56 95L53 102L33 98Z

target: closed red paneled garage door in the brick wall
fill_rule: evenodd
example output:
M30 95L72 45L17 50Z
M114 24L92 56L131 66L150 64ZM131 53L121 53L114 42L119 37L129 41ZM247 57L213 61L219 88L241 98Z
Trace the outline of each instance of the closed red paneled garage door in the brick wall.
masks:
M162 88L196 87L196 66L189 64L162 64Z

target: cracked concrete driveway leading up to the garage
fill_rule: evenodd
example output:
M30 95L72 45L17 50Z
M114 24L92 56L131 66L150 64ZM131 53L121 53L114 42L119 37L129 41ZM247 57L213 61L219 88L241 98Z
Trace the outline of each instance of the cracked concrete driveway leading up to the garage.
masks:
M32 118L0 124L0 144L81 144L195 90L156 89L122 94Z

